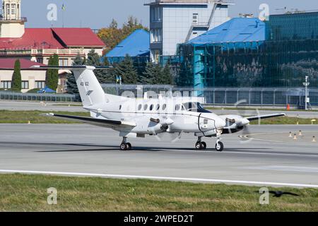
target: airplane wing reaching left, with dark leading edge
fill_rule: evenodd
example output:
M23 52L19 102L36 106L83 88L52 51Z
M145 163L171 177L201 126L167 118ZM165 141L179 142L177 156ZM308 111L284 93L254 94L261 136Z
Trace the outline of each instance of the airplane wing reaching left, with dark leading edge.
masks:
M133 128L136 126L134 122L131 121L116 121L116 120L110 120L110 119L94 119L90 117L79 117L79 116L72 116L72 115L64 115L64 114L40 114L41 116L45 117L57 117L61 119L66 119L69 121L78 121L86 124L90 124L93 126L101 126L106 127L110 129L118 129L120 127L124 128Z

